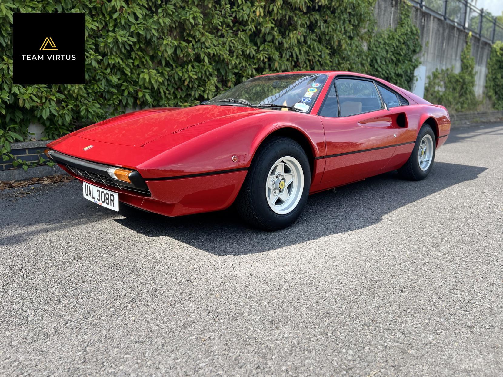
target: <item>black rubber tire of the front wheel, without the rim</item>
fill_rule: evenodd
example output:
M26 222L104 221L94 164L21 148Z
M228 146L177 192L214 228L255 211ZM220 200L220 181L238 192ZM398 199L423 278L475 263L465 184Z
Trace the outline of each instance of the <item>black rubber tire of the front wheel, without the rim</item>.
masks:
M304 176L303 190L299 194L299 202L291 212L277 214L267 202L266 182L273 164L286 156L294 157L300 163ZM285 228L300 216L309 196L310 185L311 169L302 147L286 137L271 138L261 145L251 162L241 191L236 198L237 212L246 223L253 227L268 231Z

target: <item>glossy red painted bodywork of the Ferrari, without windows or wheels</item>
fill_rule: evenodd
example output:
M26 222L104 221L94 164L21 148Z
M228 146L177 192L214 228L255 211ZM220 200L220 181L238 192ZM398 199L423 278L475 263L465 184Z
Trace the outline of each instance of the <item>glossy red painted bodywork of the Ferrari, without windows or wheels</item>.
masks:
M229 207L257 148L279 130L304 138L309 146L311 194L399 168L410 156L412 142L425 122L434 129L437 148L447 139L450 119L442 106L367 75L340 71L305 73L328 76L309 114L212 105L148 109L75 131L48 147L88 161L137 170L151 196L103 187L119 192L121 202L178 216ZM330 83L338 75L375 79L400 93L409 105L342 118L318 116ZM405 127L398 125L399 114L405 115ZM84 151L89 145L93 148ZM389 145L393 146L381 148ZM369 151L358 152L362 150ZM232 156L237 156L237 161Z

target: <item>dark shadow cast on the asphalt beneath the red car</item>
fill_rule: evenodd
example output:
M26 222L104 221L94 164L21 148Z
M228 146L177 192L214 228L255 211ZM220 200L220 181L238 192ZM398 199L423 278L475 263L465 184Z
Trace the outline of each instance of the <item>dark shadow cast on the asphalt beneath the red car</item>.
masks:
M171 237L215 255L244 255L363 229L386 214L476 179L485 167L435 162L423 181L398 178L396 171L309 197L301 217L289 228L264 232L247 227L231 208L221 212L169 218L122 207L117 223L148 237Z

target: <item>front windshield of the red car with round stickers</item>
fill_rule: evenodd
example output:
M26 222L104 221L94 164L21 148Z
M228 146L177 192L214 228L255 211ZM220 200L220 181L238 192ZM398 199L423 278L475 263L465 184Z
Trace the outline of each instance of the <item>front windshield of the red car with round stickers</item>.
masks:
M250 78L223 92L208 105L277 105L307 113L323 87L324 74L288 73ZM285 109L288 110L288 109Z

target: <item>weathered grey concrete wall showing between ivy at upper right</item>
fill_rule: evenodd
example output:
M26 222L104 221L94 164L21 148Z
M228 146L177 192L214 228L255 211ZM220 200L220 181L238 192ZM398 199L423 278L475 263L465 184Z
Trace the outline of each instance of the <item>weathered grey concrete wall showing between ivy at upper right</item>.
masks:
M380 29L396 27L400 0L377 0L375 16ZM461 69L461 51L466 45L468 32L418 7L412 7L412 21L421 33L422 64L426 66L426 76L435 69L454 67ZM487 74L487 61L491 44L478 37L472 37L472 56L475 57L475 93L482 97ZM428 79L427 79L428 81Z

